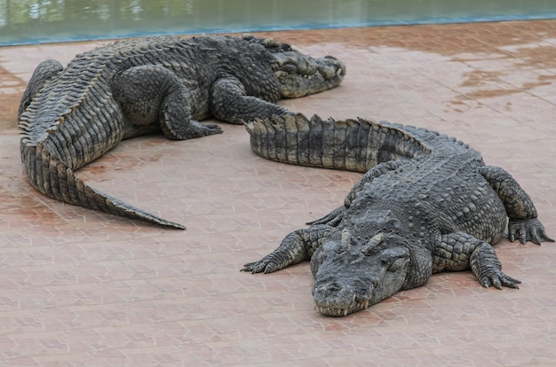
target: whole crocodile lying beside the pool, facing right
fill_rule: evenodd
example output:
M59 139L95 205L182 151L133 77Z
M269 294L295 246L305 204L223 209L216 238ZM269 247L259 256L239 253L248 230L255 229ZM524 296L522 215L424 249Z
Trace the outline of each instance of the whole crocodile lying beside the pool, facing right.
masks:
M241 124L288 114L278 100L329 90L345 74L331 56L314 59L253 35L146 37L84 52L66 67L48 59L21 98L21 159L30 183L53 199L185 229L95 190L75 170L130 137L220 133L217 124L199 122L209 116Z

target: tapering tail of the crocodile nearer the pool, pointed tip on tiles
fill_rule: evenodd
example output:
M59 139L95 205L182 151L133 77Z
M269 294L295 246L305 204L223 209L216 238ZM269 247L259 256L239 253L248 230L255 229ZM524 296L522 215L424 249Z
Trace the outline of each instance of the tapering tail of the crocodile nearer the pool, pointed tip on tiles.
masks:
M53 199L163 227L185 230L185 227L179 223L151 215L91 188L77 178L55 154L48 152L43 144L21 144L21 159L27 169L30 183L36 190Z

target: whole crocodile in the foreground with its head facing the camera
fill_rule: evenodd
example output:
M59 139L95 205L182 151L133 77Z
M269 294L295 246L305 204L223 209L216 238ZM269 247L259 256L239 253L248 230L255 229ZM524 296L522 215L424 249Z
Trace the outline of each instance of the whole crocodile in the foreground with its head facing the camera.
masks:
M270 273L309 260L323 315L369 308L444 270L471 269L482 286L518 288L492 246L506 226L511 241L553 242L519 183L456 138L301 114L255 119L246 128L252 150L266 159L364 172L342 205L242 268Z

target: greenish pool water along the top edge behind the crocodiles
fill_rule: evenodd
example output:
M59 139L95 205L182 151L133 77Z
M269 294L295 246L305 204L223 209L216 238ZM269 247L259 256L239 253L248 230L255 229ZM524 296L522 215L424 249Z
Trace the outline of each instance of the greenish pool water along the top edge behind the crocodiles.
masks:
M548 18L555 0L0 0L0 45Z

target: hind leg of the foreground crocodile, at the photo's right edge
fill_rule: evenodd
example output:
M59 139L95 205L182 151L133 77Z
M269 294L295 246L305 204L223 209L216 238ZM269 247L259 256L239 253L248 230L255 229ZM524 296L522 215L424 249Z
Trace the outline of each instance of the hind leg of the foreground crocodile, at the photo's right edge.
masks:
M510 218L508 222L508 238L510 241L513 242L515 238L519 238L522 244L533 241L537 245L540 245L543 241L554 242L544 232L543 223L536 218L536 208L533 200L508 172L495 166L481 167L479 172L487 179L504 203L506 215Z

